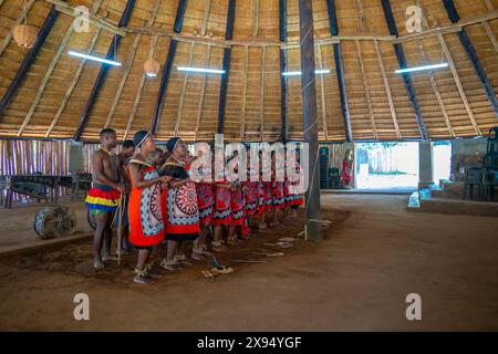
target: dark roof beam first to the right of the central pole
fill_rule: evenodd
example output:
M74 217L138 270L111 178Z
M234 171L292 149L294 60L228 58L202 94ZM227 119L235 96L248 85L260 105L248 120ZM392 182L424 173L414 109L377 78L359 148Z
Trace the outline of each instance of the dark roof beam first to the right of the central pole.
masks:
M326 10L329 12L329 28L332 37L339 35L338 15L335 12L335 1L326 0ZM353 131L351 128L351 115L347 102L347 92L344 80L344 64L342 61L342 51L340 43L333 43L335 73L338 75L339 96L341 100L341 113L344 122L344 135L346 142L353 140Z

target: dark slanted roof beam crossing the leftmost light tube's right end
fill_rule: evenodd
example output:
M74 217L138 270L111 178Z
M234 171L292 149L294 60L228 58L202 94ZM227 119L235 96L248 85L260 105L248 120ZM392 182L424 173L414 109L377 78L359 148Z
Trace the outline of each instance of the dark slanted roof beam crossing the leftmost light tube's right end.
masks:
M118 27L125 27L131 17L133 9L135 8L135 0L127 0L126 7L123 11L123 14L121 17ZM120 46L122 37L118 34L115 34L110 46L107 50L107 54L105 55L106 59L114 59L116 55L117 48ZM74 133L74 140L80 140L81 136L83 135L84 129L86 128L86 124L90 119L90 114L92 112L93 105L96 102L96 98L98 96L98 92L101 91L102 85L104 84L105 79L107 77L107 72L110 70L110 65L101 65L101 70L98 71L98 75L93 84L92 91L90 92L89 100L86 101L86 105L83 108L83 112L81 114L80 124L76 128L76 132Z

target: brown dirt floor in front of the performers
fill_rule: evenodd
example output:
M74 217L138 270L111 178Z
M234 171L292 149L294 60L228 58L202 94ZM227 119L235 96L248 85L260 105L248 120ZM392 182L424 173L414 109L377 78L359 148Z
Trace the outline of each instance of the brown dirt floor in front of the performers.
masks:
M201 275L205 263L137 285L135 256L96 274L87 241L9 257L0 260L0 330L498 330L498 218L409 212L406 204L322 195L322 218L333 221L325 241L298 241L280 258L249 253L302 229L288 223L219 256L235 272L215 282ZM73 317L76 293L90 296L90 321ZM408 293L422 296L422 321L405 317Z

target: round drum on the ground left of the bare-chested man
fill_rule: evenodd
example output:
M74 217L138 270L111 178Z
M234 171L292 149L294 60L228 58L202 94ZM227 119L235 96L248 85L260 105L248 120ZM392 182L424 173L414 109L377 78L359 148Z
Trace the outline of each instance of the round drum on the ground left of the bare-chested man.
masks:
M50 206L37 212L33 229L42 240L70 236L76 229L76 216L68 207Z

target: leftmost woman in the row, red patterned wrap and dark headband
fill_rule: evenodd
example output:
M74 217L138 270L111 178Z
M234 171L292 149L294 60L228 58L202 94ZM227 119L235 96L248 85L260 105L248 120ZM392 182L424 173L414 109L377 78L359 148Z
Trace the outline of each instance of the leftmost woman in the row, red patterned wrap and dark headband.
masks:
M147 160L149 154L156 149L154 138L148 132L137 132L134 143L139 152L128 164L132 183L128 205L129 241L138 248L133 281L144 284L159 278L152 272L149 258L152 247L158 244L164 235L160 183L167 184L170 178L159 177L156 168Z

